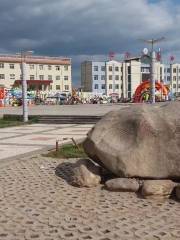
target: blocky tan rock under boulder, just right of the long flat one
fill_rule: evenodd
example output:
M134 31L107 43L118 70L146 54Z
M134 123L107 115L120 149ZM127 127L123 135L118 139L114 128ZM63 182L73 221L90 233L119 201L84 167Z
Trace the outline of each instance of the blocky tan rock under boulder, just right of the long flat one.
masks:
M146 180L142 186L145 198L169 198L176 183L171 180Z

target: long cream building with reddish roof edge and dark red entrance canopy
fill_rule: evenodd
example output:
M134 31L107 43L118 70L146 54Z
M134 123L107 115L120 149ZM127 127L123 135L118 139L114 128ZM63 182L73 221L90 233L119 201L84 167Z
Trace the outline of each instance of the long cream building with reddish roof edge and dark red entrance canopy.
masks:
M21 85L22 60L26 63L29 90L72 91L71 59L60 57L0 55L0 85L6 88Z

